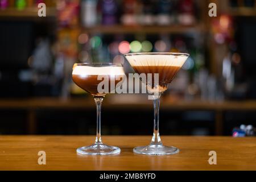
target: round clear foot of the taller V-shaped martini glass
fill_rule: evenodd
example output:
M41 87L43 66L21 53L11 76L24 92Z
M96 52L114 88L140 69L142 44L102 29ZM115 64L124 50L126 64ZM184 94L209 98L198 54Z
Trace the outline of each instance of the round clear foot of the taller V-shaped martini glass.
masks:
M179 153L179 149L172 146L163 146L162 144L150 144L149 146L135 147L133 152L144 155L172 155Z

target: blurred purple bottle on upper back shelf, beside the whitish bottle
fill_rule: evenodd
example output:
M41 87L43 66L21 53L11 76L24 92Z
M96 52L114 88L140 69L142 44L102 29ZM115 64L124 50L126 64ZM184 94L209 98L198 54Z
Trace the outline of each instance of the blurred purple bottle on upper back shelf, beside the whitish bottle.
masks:
M101 2L102 24L112 25L117 23L117 2L114 0L103 0Z

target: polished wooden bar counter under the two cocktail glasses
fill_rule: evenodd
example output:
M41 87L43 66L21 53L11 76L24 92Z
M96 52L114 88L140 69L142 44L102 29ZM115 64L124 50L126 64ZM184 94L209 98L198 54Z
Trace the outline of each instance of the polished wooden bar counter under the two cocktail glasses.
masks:
M151 136L103 136L103 142L119 146L121 154L79 156L76 148L92 144L94 136L0 136L0 170L256 170L256 138L169 137L163 143L180 149L167 156L133 153ZM46 152L46 165L38 164L38 152ZM217 164L208 163L216 151Z

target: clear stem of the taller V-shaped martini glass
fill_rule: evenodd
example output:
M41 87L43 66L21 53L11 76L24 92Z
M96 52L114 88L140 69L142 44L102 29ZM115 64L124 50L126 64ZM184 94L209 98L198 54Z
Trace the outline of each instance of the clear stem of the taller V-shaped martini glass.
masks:
M151 140L150 144L161 144L161 139L159 135L159 105L160 105L160 96L161 94L158 95L153 95L153 103L154 103L154 133L153 137Z

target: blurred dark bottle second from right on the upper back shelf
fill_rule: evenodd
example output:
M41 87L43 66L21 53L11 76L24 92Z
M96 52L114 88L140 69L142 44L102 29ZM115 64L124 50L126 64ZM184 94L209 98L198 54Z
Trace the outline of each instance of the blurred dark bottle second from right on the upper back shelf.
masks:
M156 23L168 25L174 22L171 0L160 0L157 7Z

